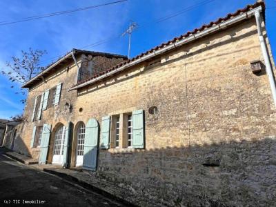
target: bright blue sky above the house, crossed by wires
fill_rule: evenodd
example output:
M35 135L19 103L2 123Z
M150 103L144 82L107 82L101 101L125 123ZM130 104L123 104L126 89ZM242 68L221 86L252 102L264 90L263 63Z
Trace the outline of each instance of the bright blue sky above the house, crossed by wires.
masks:
M71 10L110 1L112 0L1 0L0 21L14 21L37 14ZM130 21L135 21L141 26L132 34L130 56L133 57L188 30L224 17L228 12L235 12L249 3L255 3L255 0L216 0L167 21L152 23L201 1L128 0L102 8L0 26L0 66L3 68L12 56L20 55L21 50L28 50L30 47L47 50L48 54L41 60L41 64L46 66L53 61L52 57L64 55L72 48L83 48L97 41L118 37L126 30ZM275 8L276 1L267 0L266 7ZM276 30L273 19L276 19L276 10L267 9L266 28L275 55ZM119 37L100 46L85 49L127 55L128 38ZM24 97L15 95L14 89L10 86L8 79L0 75L0 118L8 119L23 111L20 100Z

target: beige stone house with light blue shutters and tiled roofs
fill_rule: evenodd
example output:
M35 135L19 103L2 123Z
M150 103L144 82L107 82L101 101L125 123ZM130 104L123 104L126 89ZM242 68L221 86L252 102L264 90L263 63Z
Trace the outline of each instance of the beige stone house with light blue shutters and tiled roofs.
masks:
M28 121L14 150L167 206L272 205L275 66L264 11L246 6L132 59L72 50L23 85Z

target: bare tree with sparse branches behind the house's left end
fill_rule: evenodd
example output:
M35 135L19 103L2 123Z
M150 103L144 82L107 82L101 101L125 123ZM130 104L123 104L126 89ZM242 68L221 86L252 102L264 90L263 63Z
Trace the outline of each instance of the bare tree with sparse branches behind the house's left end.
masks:
M6 63L6 68L1 70L1 72L3 75L6 75L12 83L26 83L44 70L44 67L40 66L40 58L44 54L46 54L46 50L33 50L32 48L29 48L27 52L21 50L21 57L12 57L12 61L8 61ZM14 88L14 85L10 87ZM26 90L21 88L20 92L16 92L16 94L19 93L26 95ZM25 103L26 100L23 99L21 102Z

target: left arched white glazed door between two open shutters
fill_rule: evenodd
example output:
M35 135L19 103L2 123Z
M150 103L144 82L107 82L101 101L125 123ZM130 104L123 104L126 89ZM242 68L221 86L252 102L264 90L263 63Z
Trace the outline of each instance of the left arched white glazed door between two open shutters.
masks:
M63 161L63 146L66 135L66 127L61 125L55 133L55 143L52 157L52 164L62 164Z

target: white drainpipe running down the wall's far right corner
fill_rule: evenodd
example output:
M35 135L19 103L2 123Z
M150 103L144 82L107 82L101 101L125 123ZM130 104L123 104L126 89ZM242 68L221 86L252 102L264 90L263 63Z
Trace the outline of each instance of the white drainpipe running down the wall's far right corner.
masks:
M256 18L256 23L257 23L257 30L259 34L259 43L261 44L262 48L262 54L264 57L264 63L266 65L266 74L268 75L269 83L270 83L270 88L274 100L274 105L276 107L276 87L275 87L275 81L274 81L274 76L273 76L273 70L271 67L269 55L268 55L268 50L266 48L266 43L264 42L264 36L262 33L262 22L261 22L261 15L259 14L259 10L255 11L255 18Z

